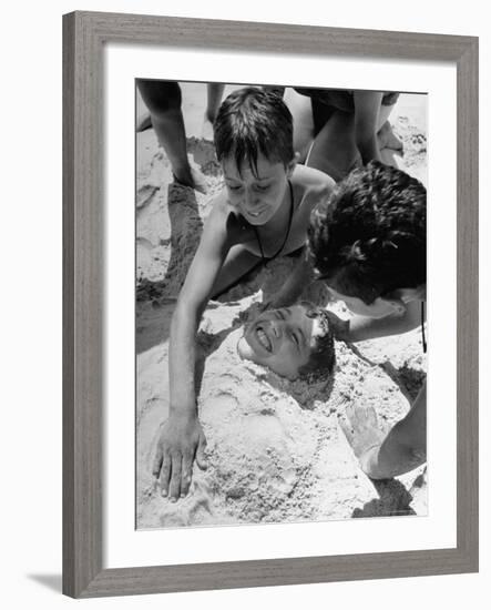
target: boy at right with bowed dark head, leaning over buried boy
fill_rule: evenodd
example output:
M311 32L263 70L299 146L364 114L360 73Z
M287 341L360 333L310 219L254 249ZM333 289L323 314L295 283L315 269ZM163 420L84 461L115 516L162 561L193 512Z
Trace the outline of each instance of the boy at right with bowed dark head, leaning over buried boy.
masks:
M317 206L309 251L318 278L356 314L335 321L348 342L411 331L424 342L427 193L405 172L371 162ZM344 430L365 472L381 479L426 461L426 382L408 415L387 435L374 411L350 409Z

